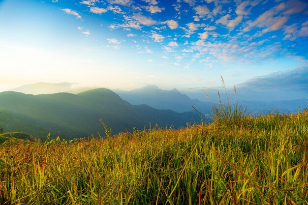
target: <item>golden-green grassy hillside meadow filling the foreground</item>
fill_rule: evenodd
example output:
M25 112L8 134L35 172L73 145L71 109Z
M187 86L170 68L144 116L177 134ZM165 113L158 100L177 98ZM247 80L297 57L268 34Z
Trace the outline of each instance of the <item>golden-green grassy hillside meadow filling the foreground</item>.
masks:
M307 109L260 117L216 111L211 124L177 130L6 141L0 204L308 204Z

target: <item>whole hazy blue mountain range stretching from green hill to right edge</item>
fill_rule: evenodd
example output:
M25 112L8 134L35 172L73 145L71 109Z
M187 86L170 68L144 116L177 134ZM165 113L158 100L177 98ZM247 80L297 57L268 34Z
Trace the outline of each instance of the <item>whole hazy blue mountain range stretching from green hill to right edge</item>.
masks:
M119 89L114 91L131 104L147 104L157 109L171 109L177 112L191 111L193 110L191 107L192 105L203 114L210 114L212 113L211 106L214 105L214 103L219 103L217 90L214 89L208 91L208 96L206 96L205 91L200 91L199 93L183 92L185 94L182 94L176 88L172 90L162 90L154 85L133 89L131 91ZM290 99L286 97L287 95L273 96L273 93L270 91L260 92L249 88L237 89L236 95L234 94L234 90L232 90L233 92L227 90L227 93L225 90L219 91L222 103L227 103L228 100L230 104L238 102L240 105L247 108L247 113L254 115L264 115L267 112L275 111L276 108L280 113L296 113L299 108L303 109L308 106L308 95L306 95L307 98L305 98L303 97L305 94L303 96L294 94L294 92L290 90L289 91L293 93ZM297 91L305 93L305 89L299 89ZM287 90L285 92L287 92ZM191 99L193 97L199 99ZM209 99L207 97L209 97Z

